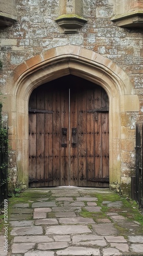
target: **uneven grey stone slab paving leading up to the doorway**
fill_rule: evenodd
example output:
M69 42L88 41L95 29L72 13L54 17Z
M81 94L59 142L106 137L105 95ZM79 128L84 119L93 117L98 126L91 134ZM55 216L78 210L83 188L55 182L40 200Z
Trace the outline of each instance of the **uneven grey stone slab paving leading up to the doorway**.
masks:
M91 196L95 192L111 193L108 189L57 187L49 190L52 200L37 198L32 207L28 203L13 206L9 256L143 255L142 227L121 215L122 202L103 202L108 209L114 209L103 217L98 199ZM94 212L94 218L81 217L82 209ZM26 220L25 216L31 212L33 220ZM124 227L125 234L121 236L117 227Z

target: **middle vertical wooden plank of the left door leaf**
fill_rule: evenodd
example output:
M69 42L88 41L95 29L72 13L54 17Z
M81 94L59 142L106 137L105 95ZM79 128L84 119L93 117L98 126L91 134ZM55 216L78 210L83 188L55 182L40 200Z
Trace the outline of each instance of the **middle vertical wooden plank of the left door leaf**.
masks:
M52 90L45 90L45 110L53 111ZM53 186L53 114L45 114L45 179L46 186Z

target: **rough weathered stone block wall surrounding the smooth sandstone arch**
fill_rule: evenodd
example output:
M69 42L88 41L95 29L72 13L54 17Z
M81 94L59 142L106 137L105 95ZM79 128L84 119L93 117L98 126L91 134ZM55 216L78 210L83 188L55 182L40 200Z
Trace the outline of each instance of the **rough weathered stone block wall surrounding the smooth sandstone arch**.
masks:
M127 73L134 89L133 93L139 97L139 115L136 111L130 112L130 108L127 113L121 114L121 182L122 189L126 190L134 172L135 123L137 120L143 120L143 40L141 29L121 28L111 22L116 3L116 0L82 0L82 16L87 23L78 34L62 34L55 22L60 15L59 0L16 0L17 22L0 30L0 59L3 61L0 82L1 91L8 94L9 90L5 84L14 68L34 55L59 46L80 46L115 62ZM8 102L5 101L4 111L7 112ZM16 137L15 123L15 115L12 113L9 117L12 159L9 167L14 177L17 176L17 146L12 140ZM125 138L128 138L128 141L125 142Z

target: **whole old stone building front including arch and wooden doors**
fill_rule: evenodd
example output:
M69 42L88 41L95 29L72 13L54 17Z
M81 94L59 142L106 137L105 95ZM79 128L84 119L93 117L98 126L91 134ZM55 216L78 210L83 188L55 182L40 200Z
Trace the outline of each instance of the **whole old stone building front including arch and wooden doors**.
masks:
M143 120L142 0L0 3L10 188L130 195Z

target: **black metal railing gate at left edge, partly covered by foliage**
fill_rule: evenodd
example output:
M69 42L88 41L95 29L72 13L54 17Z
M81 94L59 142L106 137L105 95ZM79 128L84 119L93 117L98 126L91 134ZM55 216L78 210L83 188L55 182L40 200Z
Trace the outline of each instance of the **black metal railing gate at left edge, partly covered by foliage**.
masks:
M8 127L0 122L0 208L8 196Z

